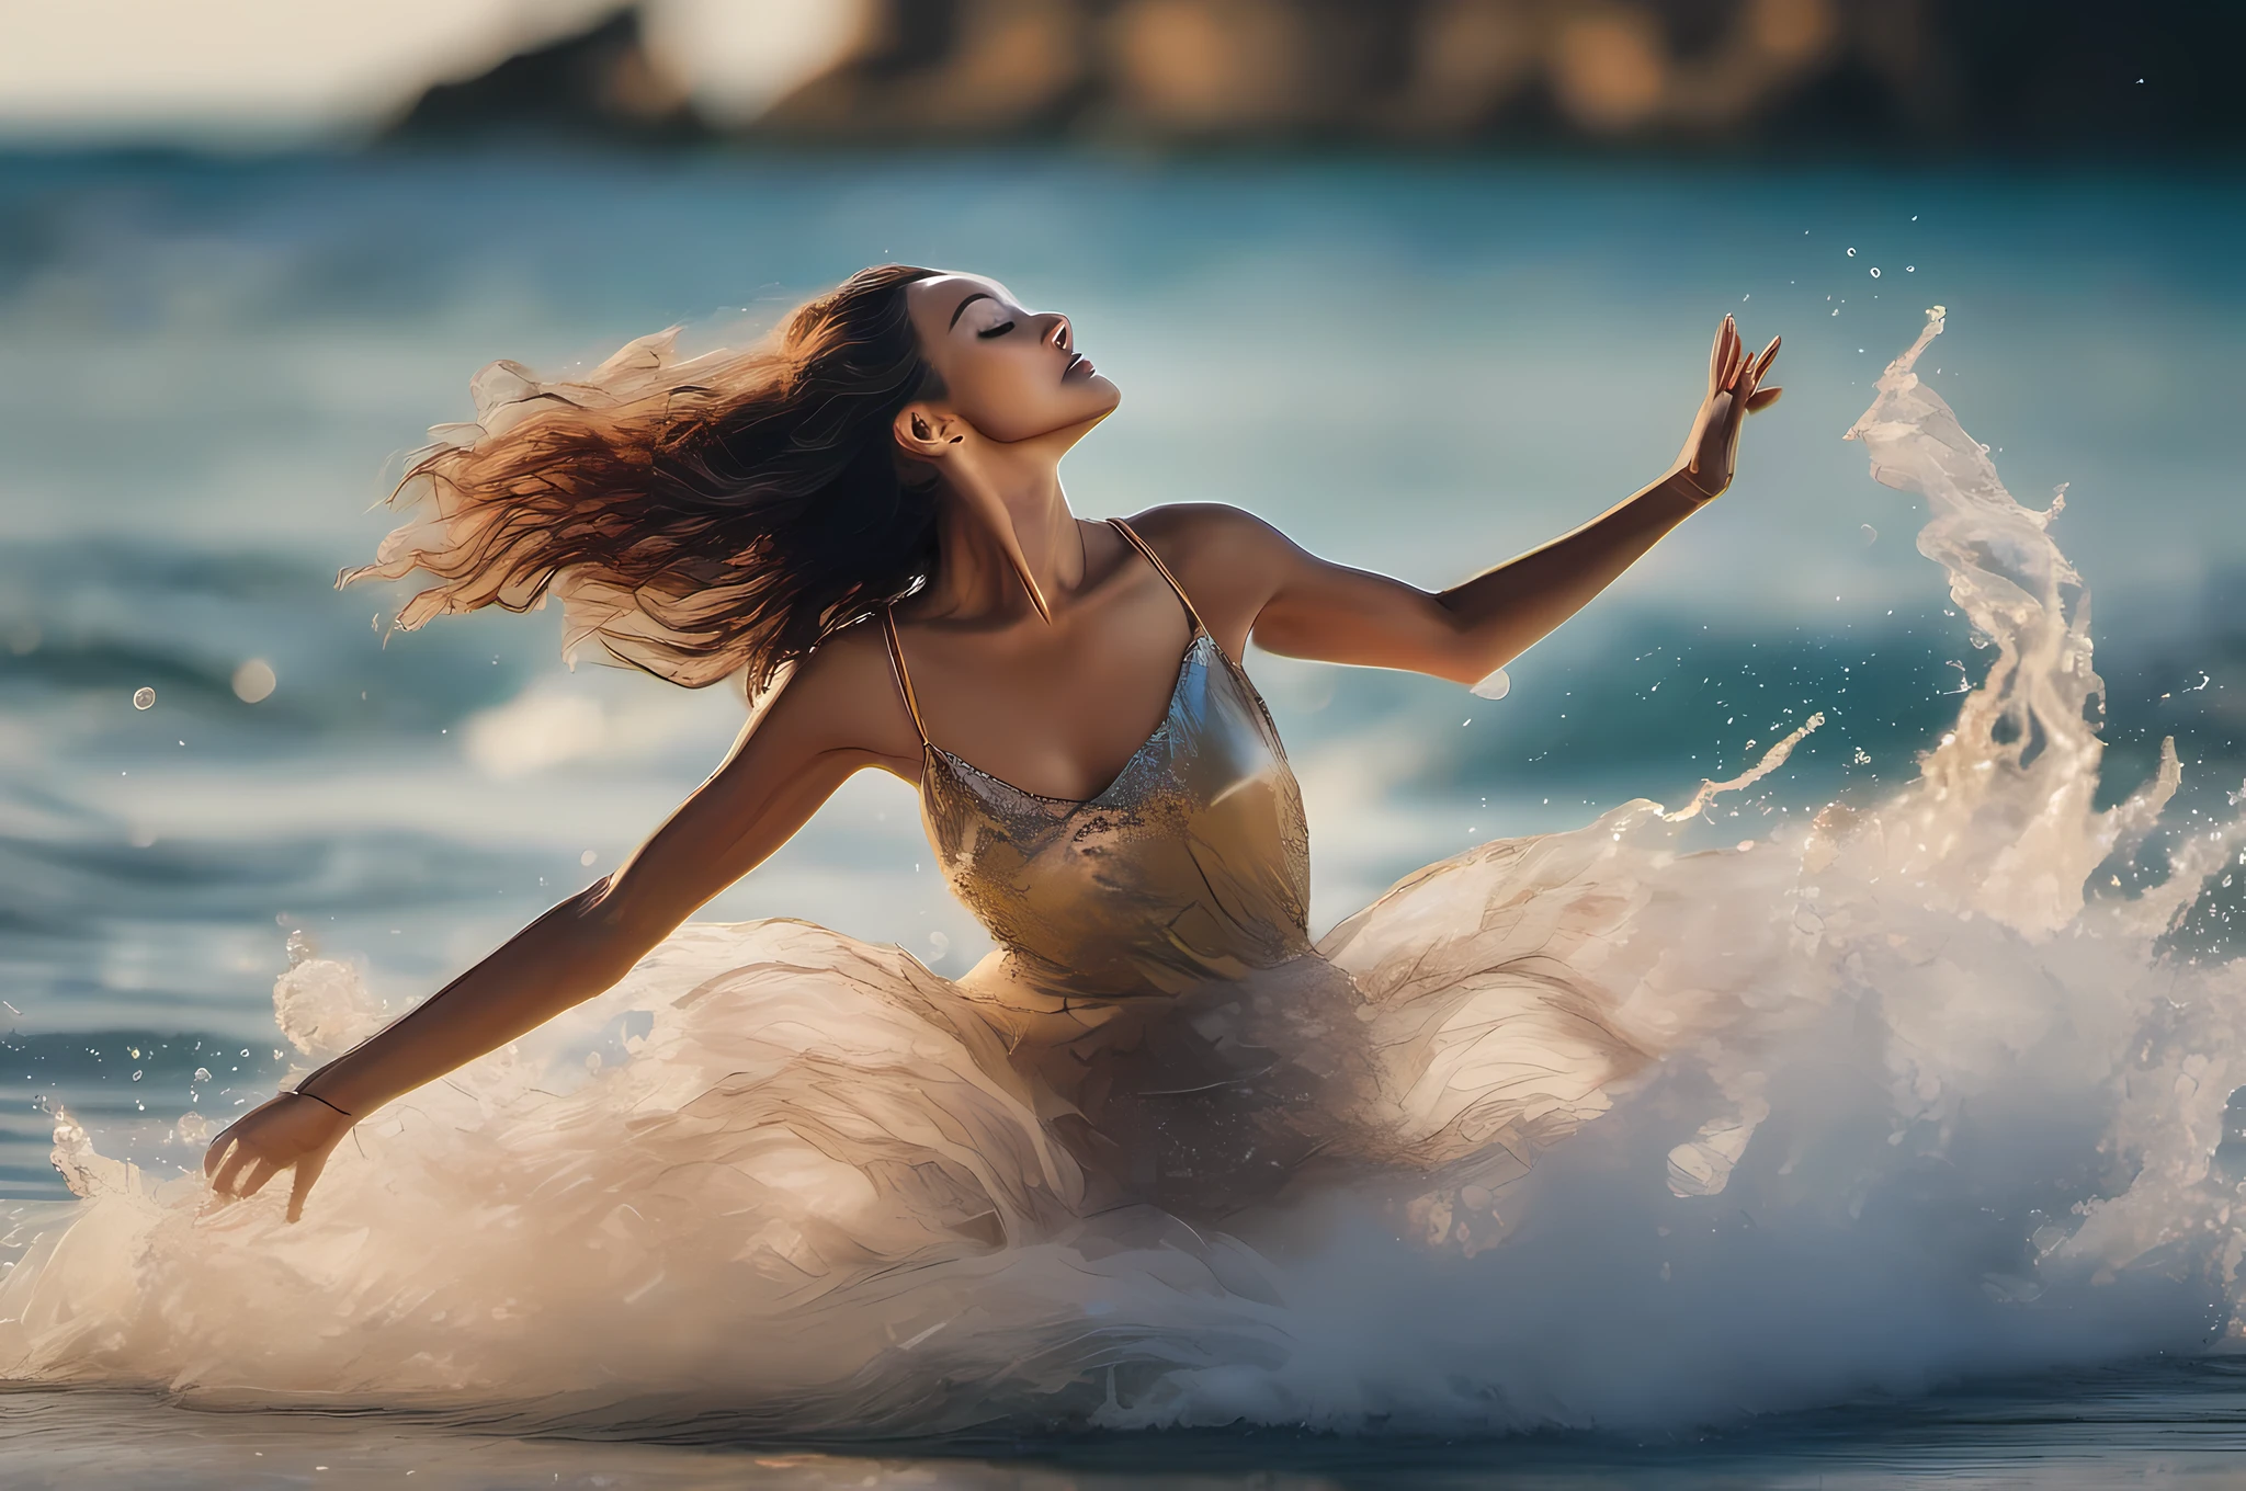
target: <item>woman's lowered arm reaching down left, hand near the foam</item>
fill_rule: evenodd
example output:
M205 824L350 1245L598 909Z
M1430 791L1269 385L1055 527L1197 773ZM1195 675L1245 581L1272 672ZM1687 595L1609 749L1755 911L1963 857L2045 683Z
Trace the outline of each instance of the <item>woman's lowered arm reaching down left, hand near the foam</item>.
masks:
M725 761L613 873L211 1141L227 1197L294 1165L287 1215L357 1118L606 990L699 905L755 869L853 772L916 777L919 734L871 626L833 638L741 730Z

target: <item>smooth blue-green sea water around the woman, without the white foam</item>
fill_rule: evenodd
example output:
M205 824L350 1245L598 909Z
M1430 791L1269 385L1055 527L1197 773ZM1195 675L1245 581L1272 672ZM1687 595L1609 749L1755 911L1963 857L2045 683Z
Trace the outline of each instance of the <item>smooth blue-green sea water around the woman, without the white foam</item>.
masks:
M1251 656L1305 781L1323 927L1471 842L1680 802L1813 710L1828 728L1711 835L1911 775L1983 658L1911 550L1914 503L1839 433L1934 303L1952 330L1932 382L2015 492L2069 483L2055 532L2098 595L2116 790L2174 734L2183 817L2215 813L2246 775L2226 692L2246 676L2239 200L2221 180L1918 171L4 159L0 1195L25 1219L63 1197L54 1103L106 1154L193 1163L173 1132L189 1103L222 1118L283 1064L270 988L290 930L402 1006L611 867L730 741L723 689L566 674L553 615L384 644L389 597L330 588L386 528L368 512L384 458L467 413L492 357L559 371L674 321L721 341L892 256L984 269L1069 310L1125 388L1069 463L1085 514L1235 501L1444 584L1655 476L1723 312L1754 341L1783 332L1788 395L1734 492L1523 658L1503 703ZM279 678L261 703L231 687L247 660ZM2226 950L2235 894L2201 905L2192 948ZM941 972L984 948L910 793L874 779L712 914L809 916ZM456 1460L490 1469L451 1484L1229 1484L1258 1466L1262 1484L2098 1484L2219 1475L2239 1397L2221 1363L2134 1363L1653 1446L1267 1430L1002 1444L993 1466L990 1444L878 1466L469 1453L458 1426L108 1394L9 1394L0 1424L16 1473L72 1484L130 1484L99 1469L121 1433L146 1446L139 1475L175 1484L245 1484L321 1446L355 1446L386 1484L447 1484Z

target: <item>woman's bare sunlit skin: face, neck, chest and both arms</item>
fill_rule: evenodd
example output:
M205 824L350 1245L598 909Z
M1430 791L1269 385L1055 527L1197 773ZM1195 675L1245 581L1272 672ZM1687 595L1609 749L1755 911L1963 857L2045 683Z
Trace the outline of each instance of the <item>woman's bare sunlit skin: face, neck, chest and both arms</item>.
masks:
M898 606L928 737L1047 797L1105 788L1161 721L1188 644L1163 579L1105 523L1078 519L1060 458L1121 391L1078 353L1074 326L975 274L907 287L943 397L907 404L896 458L939 487L934 582ZM1732 483L1738 431L1779 388L1777 359L1732 317L1676 465L1550 543L1428 593L1327 564L1238 507L1181 503L1132 519L1226 653L1476 683L1574 615L1671 528ZM600 995L705 900L746 876L865 768L921 779L878 624L829 638L759 703L732 750L613 873L595 880L384 1031L231 1123L204 1174L220 1199L294 1172L290 1222L350 1125L391 1098Z

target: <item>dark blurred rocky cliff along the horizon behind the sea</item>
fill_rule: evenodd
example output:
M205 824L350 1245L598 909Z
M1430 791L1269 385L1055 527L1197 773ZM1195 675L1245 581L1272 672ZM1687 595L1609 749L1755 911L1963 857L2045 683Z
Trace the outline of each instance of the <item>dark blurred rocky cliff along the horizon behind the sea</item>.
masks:
M2242 56L2246 4L860 0L824 65L725 119L624 7L386 137L2235 153Z

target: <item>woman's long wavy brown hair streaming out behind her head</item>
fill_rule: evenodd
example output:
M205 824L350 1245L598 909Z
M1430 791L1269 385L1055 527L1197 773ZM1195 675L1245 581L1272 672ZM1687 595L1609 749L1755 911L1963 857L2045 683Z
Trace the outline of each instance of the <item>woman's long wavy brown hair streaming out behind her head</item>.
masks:
M555 595L568 658L764 689L934 570L934 485L901 476L889 436L941 395L905 314L930 274L860 269L748 353L681 362L672 328L582 382L494 362L476 422L431 431L391 494L411 521L337 584L433 577L398 611L409 631Z

